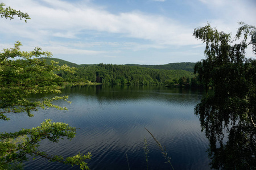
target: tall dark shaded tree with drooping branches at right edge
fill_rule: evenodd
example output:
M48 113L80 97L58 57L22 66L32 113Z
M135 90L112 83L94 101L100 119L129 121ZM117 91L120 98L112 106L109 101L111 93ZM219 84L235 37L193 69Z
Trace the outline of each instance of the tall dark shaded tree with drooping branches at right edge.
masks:
M256 168L256 60L245 57L249 45L256 54L256 28L240 24L234 40L209 23L193 32L206 44L206 59L196 63L195 73L207 95L195 114L209 139L210 165L217 169Z

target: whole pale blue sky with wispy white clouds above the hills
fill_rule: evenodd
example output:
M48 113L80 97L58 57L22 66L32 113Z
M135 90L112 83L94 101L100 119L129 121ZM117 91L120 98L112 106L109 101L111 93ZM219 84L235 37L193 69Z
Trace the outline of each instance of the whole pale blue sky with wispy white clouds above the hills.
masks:
M31 20L0 19L0 50L22 42L77 64L163 65L204 59L193 37L207 22L236 35L256 26L255 0L0 0ZM247 57L255 57L251 49Z

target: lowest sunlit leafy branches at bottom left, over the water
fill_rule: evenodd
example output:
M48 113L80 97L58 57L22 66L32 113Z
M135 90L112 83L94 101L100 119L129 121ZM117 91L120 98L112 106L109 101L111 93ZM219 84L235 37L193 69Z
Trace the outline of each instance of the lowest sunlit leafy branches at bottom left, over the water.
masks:
M84 162L92 156L90 153L77 154L72 157L63 158L59 155L49 155L38 150L39 142L48 139L51 142L59 142L59 139L75 137L76 128L70 127L62 122L46 120L40 126L32 129L22 129L15 133L0 133L0 168L6 164L22 162L26 155L42 156L51 162L61 162L69 165L80 165L81 169L89 169Z

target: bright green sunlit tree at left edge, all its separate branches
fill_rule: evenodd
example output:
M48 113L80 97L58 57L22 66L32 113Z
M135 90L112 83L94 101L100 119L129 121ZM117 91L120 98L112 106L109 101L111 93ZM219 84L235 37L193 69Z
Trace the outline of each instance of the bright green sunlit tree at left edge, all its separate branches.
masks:
M13 10L11 7L3 8L0 4L1 17L13 19L18 15L20 19L30 19L27 14ZM26 21L26 20L25 20ZM42 49L35 48L31 52L20 51L22 44L17 41L14 48L3 49L0 53L0 120L10 120L8 113L27 113L38 111L38 108L67 109L52 104L55 100L67 101L68 96L56 96L48 99L31 101L29 95L43 93L60 93L57 88L63 79L55 74L55 71L69 71L73 69L66 65L58 66L56 62L48 65L46 59L39 57L51 57L49 52L42 52ZM88 169L84 162L90 159L90 153L77 154L72 157L63 158L59 155L49 155L39 150L39 142L48 139L50 142L58 142L59 139L72 139L75 137L76 128L70 127L62 122L46 120L36 128L22 129L15 133L0 133L0 169L5 169L13 163L22 163L27 156L42 156L51 162L61 162L69 165L80 165L81 169Z

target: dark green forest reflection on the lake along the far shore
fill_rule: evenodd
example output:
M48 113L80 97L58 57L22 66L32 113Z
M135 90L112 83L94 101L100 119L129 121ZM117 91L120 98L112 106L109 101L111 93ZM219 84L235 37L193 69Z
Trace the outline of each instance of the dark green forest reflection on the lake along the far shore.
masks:
M194 101L200 99L203 90L165 86L100 85L66 87L62 92L66 95L75 92L81 96L95 97L98 101L134 101L154 98L164 102L194 105Z

